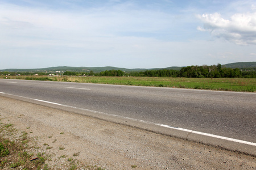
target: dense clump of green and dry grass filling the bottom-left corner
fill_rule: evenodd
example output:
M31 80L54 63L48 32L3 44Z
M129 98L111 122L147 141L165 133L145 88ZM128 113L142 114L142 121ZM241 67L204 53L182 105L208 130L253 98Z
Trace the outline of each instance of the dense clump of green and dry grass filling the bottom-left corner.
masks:
M27 133L24 131L19 137L14 137L18 133L13 125L1 124L0 126L0 169L17 168L20 169L48 169L45 161L47 156L42 153L28 152L30 146L27 145ZM4 136L4 137L3 137ZM11 140L11 139L13 140ZM26 142L24 142L26 141ZM36 158L35 160L32 160Z

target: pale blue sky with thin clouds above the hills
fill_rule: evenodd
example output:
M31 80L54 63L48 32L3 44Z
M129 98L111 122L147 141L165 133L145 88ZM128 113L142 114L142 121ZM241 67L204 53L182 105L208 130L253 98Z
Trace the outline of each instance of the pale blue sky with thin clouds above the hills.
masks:
M0 0L0 69L250 61L255 0Z

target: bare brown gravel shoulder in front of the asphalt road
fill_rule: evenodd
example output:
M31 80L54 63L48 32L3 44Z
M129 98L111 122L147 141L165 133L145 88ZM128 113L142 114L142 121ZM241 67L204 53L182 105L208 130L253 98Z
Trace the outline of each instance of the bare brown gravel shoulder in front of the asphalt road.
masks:
M51 169L68 169L68 158L79 169L256 169L253 156L2 96L0 119L51 155Z

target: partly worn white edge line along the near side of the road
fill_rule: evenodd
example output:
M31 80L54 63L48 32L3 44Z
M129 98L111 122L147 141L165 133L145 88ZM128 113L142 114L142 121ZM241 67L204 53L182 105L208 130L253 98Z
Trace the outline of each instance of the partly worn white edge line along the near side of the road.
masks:
M0 92L0 94L6 94L6 93L5 93L5 92ZM50 103L50 104L55 104L55 105L61 105L61 106L63 106L63 107L79 109L79 110L81 110L81 111L88 111L88 112L93 112L93 113L105 114L105 115L108 115L108 116L126 118L126 119L129 119L129 120L138 121L138 122L143 122L143 123L146 123L146 124L151 124L151 125L156 125L156 126L162 126L162 127L164 127L164 128L176 129L176 130L180 130L180 131L187 131L187 132L189 132L189 133L195 133L195 134L205 135L205 136L208 136L208 137L213 137L213 138L218 138L218 139L224 139L224 140L226 140L226 141L232 141L232 142L237 142L237 143L243 143L243 144L246 144L246 145L256 146L256 143L253 143L253 142L247 142L247 141L242 141L242 140L239 140L239 139L233 139L233 138L228 138L228 137L222 137L222 136L219 136L219 135L204 133L204 132L200 132L200 131L193 131L193 130L189 130L189 129L176 128L176 127L172 127L172 126L168 126L168 125L163 125L163 124L156 124L156 123L154 123L154 122L143 121L143 120L138 120L138 119L135 119L135 118L130 118L130 117L118 116L118 115L115 115L115 114L109 114L109 113L104 113L104 112L93 111L93 110L90 110L90 109L83 109L83 108L72 107L72 106L70 106L70 105L64 105L64 104L59 104L59 103L53 103L53 102L51 102L51 101L46 101L46 100L32 99L32 98L30 98L30 97L24 97L24 96L12 95L12 94L7 94L7 95L17 96L17 97L23 97L23 98L25 98L25 99L30 99L30 100L35 100L35 101L42 101L42 102L44 102L44 103Z

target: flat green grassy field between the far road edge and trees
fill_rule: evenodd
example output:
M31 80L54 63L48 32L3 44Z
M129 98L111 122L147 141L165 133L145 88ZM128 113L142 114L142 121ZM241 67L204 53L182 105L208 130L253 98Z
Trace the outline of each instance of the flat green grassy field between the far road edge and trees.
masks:
M0 76L0 78L5 78L5 76ZM129 86L192 88L218 91L256 91L256 79L247 78L159 78L131 76L8 76L8 78L28 80L50 80L77 83L121 84Z

